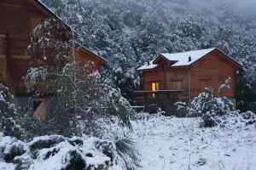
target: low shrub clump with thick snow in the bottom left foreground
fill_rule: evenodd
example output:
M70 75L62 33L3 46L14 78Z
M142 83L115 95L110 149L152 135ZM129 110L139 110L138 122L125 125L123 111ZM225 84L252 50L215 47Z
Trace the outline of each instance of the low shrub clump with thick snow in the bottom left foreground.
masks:
M15 169L104 170L135 169L136 155L131 140L102 140L83 136L41 136L24 143L9 136L0 138L0 158ZM2 163L1 162L1 163ZM136 162L136 161L134 161Z

